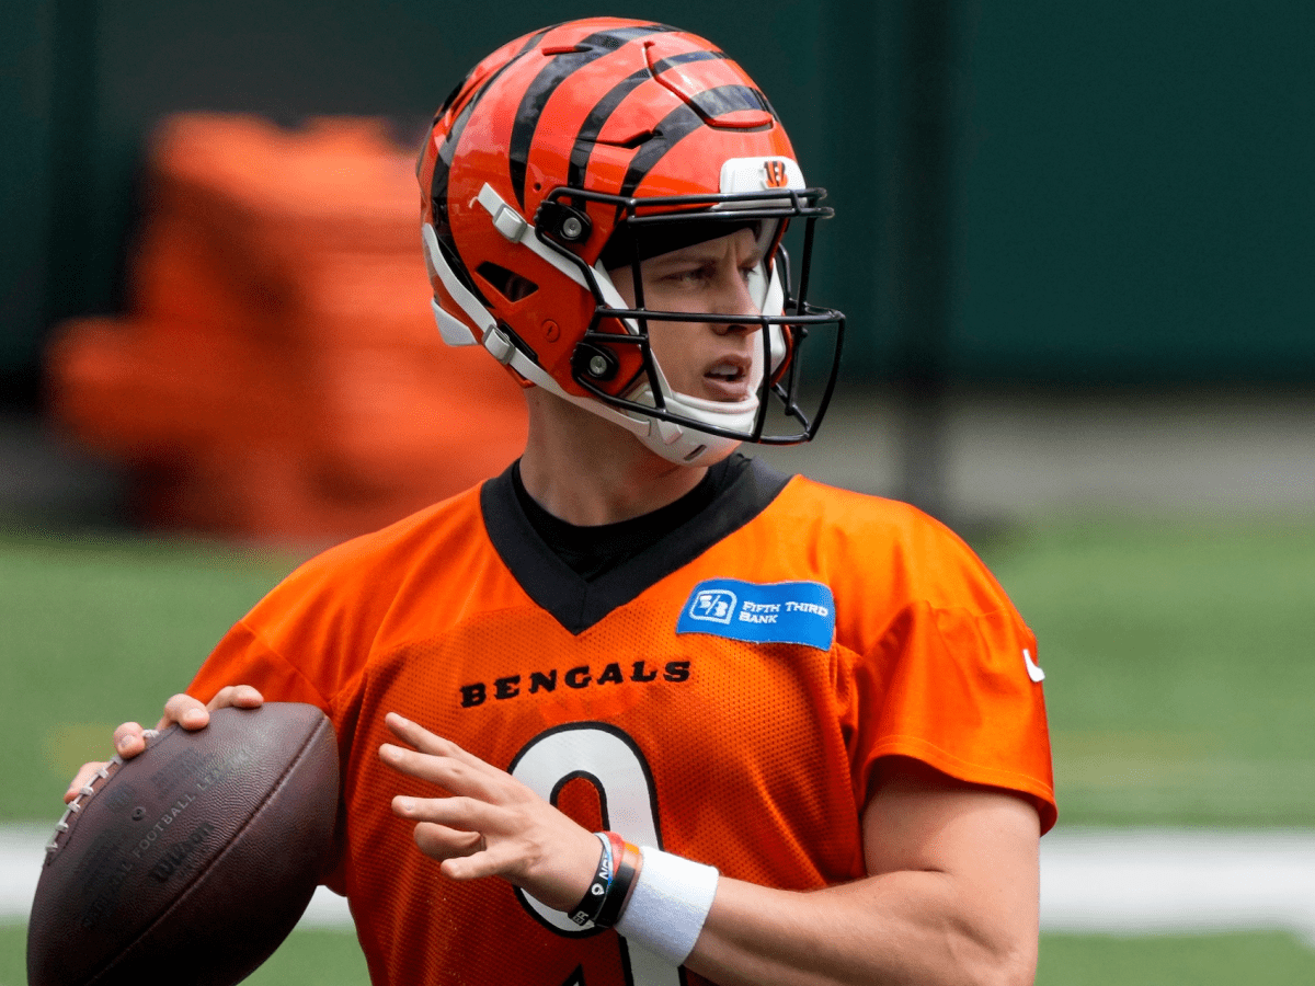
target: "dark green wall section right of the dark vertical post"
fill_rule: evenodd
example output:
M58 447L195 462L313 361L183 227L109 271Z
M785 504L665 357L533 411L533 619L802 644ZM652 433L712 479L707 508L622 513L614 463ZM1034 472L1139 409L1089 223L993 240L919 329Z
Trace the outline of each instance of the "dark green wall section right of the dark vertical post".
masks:
M964 373L1315 381L1315 4L982 3Z

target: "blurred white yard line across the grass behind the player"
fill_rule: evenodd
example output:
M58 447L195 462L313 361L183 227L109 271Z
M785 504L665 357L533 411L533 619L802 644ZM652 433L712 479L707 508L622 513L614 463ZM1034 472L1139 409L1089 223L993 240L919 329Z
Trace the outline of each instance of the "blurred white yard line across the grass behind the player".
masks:
M0 826L0 923L22 923L47 827ZM350 928L316 894L302 927ZM1315 945L1315 831L1066 830L1041 840L1045 931L1162 935L1291 931Z

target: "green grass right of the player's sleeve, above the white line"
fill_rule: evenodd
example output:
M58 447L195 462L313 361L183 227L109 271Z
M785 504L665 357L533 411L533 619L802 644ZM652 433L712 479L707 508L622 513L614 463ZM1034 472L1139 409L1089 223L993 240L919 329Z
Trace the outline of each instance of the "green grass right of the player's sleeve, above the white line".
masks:
M1040 642L1064 823L1315 826L1315 518L978 547Z

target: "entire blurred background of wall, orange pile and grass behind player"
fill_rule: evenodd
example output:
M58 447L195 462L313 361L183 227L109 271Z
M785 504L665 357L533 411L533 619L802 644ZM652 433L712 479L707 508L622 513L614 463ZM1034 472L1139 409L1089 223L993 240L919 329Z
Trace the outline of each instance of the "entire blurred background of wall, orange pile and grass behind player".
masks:
M936 514L1038 632L1061 809L1039 982L1315 981L1315 7L1295 0L5 0L20 869L71 768L300 557L517 454L515 388L433 331L410 168L480 57L597 13L727 49L830 192L811 293L849 317L842 394L769 458ZM1145 865L1112 869L1120 845ZM352 948L299 931L259 975L359 982Z

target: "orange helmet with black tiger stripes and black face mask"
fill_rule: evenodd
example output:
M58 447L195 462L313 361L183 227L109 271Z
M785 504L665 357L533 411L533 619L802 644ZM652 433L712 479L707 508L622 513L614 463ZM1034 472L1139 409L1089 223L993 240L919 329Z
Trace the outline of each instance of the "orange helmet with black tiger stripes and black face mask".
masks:
M509 42L439 108L417 175L448 344L483 346L523 385L619 423L671 461L813 438L844 331L844 316L805 300L813 225L831 209L805 185L767 97L707 41L602 17ZM797 288L782 246L792 220L803 225ZM643 259L746 226L764 248L751 279L760 314L644 308ZM619 266L634 275L633 308L608 275ZM757 387L738 402L673 392L648 346L652 319L756 326ZM806 410L801 352L821 326L828 376ZM785 421L768 429L773 402Z

